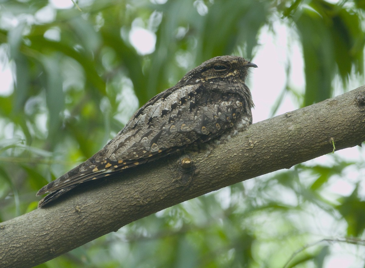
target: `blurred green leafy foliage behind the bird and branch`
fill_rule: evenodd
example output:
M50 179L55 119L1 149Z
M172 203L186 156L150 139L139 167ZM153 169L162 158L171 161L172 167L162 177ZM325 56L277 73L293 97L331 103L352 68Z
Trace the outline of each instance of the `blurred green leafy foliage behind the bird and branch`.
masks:
M38 189L101 149L141 104L192 67L224 54L254 58L260 33L277 22L295 30L302 46L304 94L284 89L299 107L333 96L335 78L346 88L350 75L364 72L362 0L77 4L81 11L46 0L0 1L0 63L14 78L0 88L0 221L35 209ZM153 52L132 45L138 28L155 36ZM38 267L283 267L295 252L286 267L329 267L343 251L364 267L358 245L306 248L324 237L364 237L365 164L355 150L358 161L335 154L325 164L238 183ZM352 193L331 191L339 182Z

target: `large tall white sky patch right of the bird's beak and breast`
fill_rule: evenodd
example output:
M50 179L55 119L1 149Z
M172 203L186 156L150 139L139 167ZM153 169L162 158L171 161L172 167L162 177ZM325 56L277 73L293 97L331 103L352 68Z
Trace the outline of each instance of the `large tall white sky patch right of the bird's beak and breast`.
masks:
M252 69L250 75L250 89L255 103L252 111L253 123L268 119L272 106L283 91L287 81L286 65L288 57L292 59L292 65L303 66L303 58L299 54L300 49L293 49L288 55L288 28L285 24L277 22L273 24L274 32L268 27L261 30L258 38L258 50L255 57L251 59L258 68ZM296 81L304 81L304 72L295 68L291 72ZM304 90L304 82L301 84ZM283 114L297 109L297 104L289 96L285 96L276 114Z

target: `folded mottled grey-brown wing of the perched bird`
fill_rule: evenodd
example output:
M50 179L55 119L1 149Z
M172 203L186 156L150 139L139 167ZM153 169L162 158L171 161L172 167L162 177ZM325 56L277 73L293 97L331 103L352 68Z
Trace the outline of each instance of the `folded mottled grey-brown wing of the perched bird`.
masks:
M143 105L103 149L44 186L37 195L108 176L189 144L208 141L238 123L247 109L245 103L237 93L222 93L202 84L165 90Z

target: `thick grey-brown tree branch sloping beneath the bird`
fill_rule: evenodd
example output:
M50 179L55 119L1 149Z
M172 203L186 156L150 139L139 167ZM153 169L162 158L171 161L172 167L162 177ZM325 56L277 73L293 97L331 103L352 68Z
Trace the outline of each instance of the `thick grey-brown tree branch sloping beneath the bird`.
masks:
M0 266L32 267L156 211L365 140L365 86L251 125L229 142L84 183L0 224ZM192 162L189 162L189 161Z

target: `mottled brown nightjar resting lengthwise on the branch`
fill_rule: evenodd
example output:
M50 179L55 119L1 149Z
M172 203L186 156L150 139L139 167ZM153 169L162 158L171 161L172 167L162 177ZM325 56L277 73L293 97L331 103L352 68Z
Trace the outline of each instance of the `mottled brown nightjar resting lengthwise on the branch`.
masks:
M159 159L192 144L228 140L252 123L245 79L257 65L237 56L215 57L151 98L103 149L38 191L38 207L82 182Z

